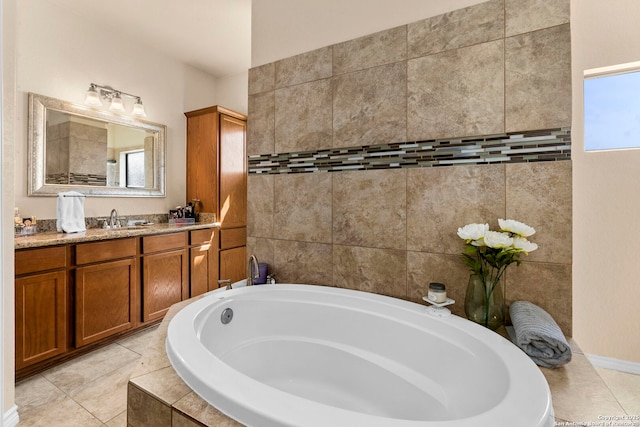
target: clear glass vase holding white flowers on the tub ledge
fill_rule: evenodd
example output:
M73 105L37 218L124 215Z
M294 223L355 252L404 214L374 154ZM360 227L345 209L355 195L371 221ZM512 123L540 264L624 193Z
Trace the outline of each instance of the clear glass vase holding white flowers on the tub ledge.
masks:
M469 320L490 329L498 329L504 322L505 306L500 280L507 267L520 265L521 254L538 249L527 237L533 227L512 219L498 219L499 231L489 224L467 224L458 228L458 236L465 241L463 261L471 270L464 309Z

